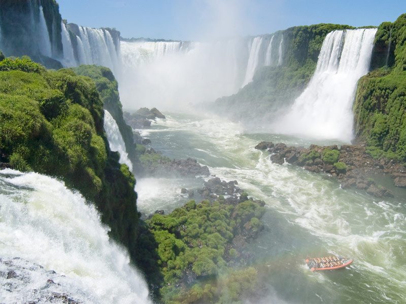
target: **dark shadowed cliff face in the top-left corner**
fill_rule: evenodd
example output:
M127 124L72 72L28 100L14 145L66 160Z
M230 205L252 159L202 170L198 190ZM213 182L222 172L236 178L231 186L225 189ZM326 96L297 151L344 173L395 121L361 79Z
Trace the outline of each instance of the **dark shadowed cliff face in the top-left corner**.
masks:
M2 0L0 26L6 56L63 57L61 16L55 0Z

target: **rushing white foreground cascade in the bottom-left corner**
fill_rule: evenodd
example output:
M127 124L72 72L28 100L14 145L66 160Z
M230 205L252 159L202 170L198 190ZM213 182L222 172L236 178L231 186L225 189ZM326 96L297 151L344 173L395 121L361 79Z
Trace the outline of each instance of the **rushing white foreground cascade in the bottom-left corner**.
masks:
M81 303L150 302L146 283L108 230L96 208L61 181L0 171L2 302L48 302L55 293Z

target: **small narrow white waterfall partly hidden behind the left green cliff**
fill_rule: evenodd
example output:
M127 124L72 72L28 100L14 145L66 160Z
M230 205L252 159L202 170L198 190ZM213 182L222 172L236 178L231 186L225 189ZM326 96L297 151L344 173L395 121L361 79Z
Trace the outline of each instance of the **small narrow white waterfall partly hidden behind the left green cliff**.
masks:
M132 163L128 159L128 153L125 150L125 144L117 123L111 116L108 110L105 110L104 128L109 140L110 150L118 151L120 154L120 164L126 164L130 171L132 171Z

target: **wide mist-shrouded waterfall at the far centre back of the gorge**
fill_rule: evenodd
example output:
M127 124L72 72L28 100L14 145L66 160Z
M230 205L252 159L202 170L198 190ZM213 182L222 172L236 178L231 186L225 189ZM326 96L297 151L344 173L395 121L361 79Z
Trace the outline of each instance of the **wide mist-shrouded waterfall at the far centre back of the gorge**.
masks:
M125 42L117 75L124 107L185 111L241 88L247 39L210 42Z

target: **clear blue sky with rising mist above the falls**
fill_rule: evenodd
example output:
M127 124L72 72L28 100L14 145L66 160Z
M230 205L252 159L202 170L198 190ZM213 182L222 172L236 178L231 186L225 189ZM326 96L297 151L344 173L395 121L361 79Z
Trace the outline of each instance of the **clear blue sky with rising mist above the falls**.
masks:
M406 0L57 0L68 22L115 27L123 37L204 40L272 33L295 25L395 21Z

